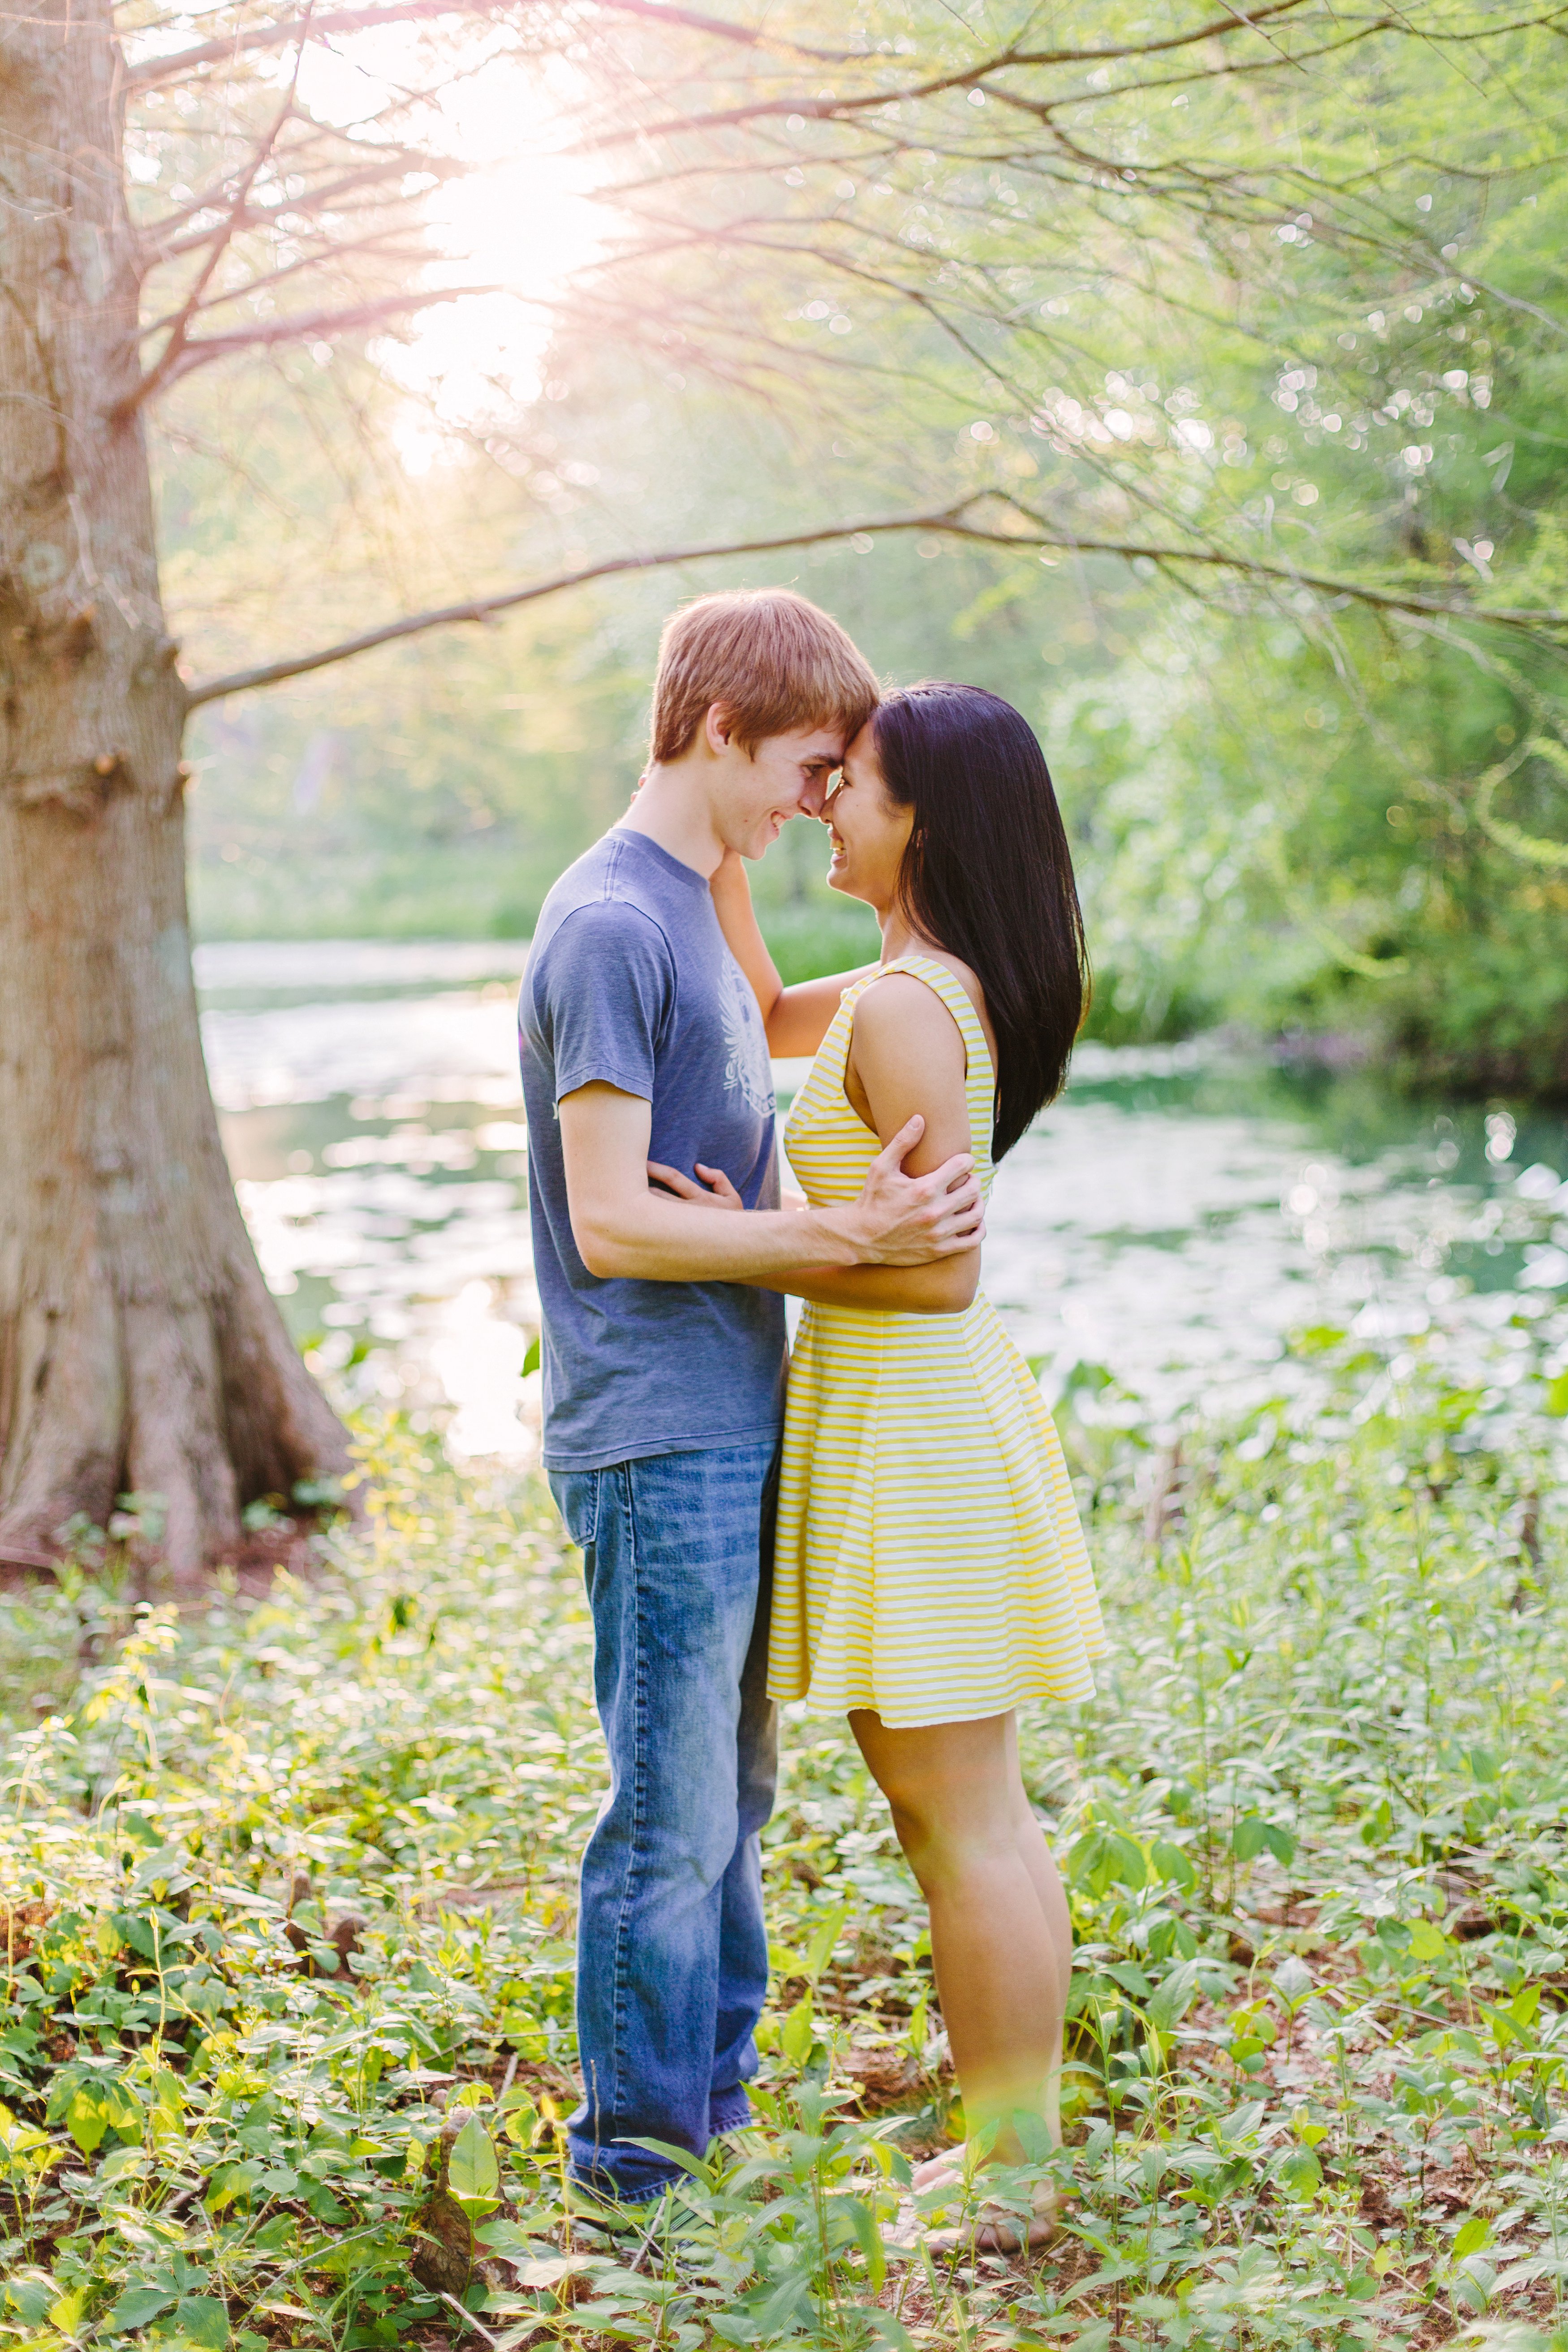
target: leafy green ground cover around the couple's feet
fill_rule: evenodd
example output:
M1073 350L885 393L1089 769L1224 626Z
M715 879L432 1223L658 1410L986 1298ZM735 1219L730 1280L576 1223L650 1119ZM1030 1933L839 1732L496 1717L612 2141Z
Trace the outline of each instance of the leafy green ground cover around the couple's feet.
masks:
M1114 1658L1025 1726L1079 1933L1032 2263L884 2244L957 2119L820 1717L757 2129L642 2234L564 2216L599 1743L536 1482L381 1428L369 1531L188 1621L85 1538L0 1625L0 2343L1568 2345L1568 1383L1512 1338L1458 1388L1314 1334L1309 1409L1164 1449L1070 1399Z

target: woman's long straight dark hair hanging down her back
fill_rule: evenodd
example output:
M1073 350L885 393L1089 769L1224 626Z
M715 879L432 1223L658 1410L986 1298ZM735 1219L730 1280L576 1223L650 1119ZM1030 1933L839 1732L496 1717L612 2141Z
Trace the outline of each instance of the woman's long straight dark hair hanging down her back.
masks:
M872 736L891 797L914 809L903 913L985 990L1001 1160L1060 1094L1088 1007L1084 915L1051 771L1030 722L985 687L929 680L889 694Z

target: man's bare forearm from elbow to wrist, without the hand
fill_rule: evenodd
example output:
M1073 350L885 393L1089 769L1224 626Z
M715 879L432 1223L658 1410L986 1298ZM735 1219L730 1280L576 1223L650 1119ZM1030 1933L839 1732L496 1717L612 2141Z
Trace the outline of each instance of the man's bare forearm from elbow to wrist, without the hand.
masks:
M703 1209L661 1192L574 1214L590 1275L637 1282L745 1282L792 1268L858 1265L844 1209Z

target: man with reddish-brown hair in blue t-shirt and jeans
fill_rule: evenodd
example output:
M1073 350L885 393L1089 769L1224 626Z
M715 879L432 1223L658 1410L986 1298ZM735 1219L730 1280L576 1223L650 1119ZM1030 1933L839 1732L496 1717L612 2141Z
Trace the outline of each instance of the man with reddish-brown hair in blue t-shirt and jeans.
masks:
M762 1016L710 877L818 816L877 682L783 590L715 595L661 640L654 743L621 823L555 884L522 983L545 1470L583 1550L611 1788L583 1856L571 2171L621 2201L748 2119L766 1992L759 1837L773 1804L766 1571L783 1298L743 1277L919 1265L973 1244L969 1160L780 1209ZM846 983L839 983L846 985ZM722 1167L691 1207L649 1160ZM952 1190L950 1190L952 1188Z

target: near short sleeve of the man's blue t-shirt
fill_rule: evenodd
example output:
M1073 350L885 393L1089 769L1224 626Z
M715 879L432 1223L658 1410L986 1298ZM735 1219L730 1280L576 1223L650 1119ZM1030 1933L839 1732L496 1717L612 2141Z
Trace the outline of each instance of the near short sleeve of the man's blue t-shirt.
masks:
M654 1101L654 1051L675 1009L675 957L649 915L602 898L562 917L538 960L534 1009L555 1101L595 1080Z

